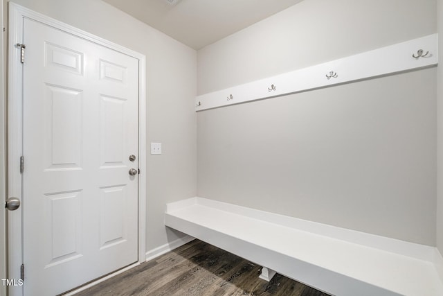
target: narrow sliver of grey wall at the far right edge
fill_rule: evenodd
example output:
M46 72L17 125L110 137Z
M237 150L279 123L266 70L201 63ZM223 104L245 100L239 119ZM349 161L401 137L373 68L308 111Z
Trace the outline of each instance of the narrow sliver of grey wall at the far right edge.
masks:
M437 0L439 57L443 59L443 0ZM443 254L443 66L437 68L437 247Z

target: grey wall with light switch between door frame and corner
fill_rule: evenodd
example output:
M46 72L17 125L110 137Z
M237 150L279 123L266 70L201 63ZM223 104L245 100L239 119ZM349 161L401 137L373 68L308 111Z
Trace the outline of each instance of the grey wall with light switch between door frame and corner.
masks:
M100 0L15 3L146 56L147 147L163 143L163 155L147 155L147 250L180 237L165 229L163 213L165 203L196 194L196 51Z

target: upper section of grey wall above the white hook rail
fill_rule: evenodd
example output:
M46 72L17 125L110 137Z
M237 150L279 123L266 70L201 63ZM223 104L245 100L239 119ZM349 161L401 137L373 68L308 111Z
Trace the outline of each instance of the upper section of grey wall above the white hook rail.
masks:
M435 0L304 0L198 51L198 94L435 33Z

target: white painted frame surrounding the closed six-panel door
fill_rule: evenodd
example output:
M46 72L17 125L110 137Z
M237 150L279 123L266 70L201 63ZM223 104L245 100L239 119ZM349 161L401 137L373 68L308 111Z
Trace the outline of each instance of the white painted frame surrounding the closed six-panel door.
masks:
M146 260L146 88L145 88L145 55L136 53L118 44L84 32L61 21L46 17L38 12L9 2L9 69L8 69L8 197L21 199L20 157L23 151L22 141L22 74L20 49L15 44L23 40L23 19L33 19L61 31L89 40L109 49L132 56L138 60L138 263ZM25 44L26 45L26 44ZM25 49L26 62L26 49ZM26 169L26 155L25 155ZM20 278L22 263L21 242L21 208L8 215L8 278ZM26 283L26 266L25 266ZM10 287L10 296L22 295L19 286Z

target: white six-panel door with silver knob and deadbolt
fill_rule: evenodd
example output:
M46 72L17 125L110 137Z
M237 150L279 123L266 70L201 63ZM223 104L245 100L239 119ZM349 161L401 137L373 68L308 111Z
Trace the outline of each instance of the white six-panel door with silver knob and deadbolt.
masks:
M138 60L26 18L23 42L24 295L57 295L138 261Z

